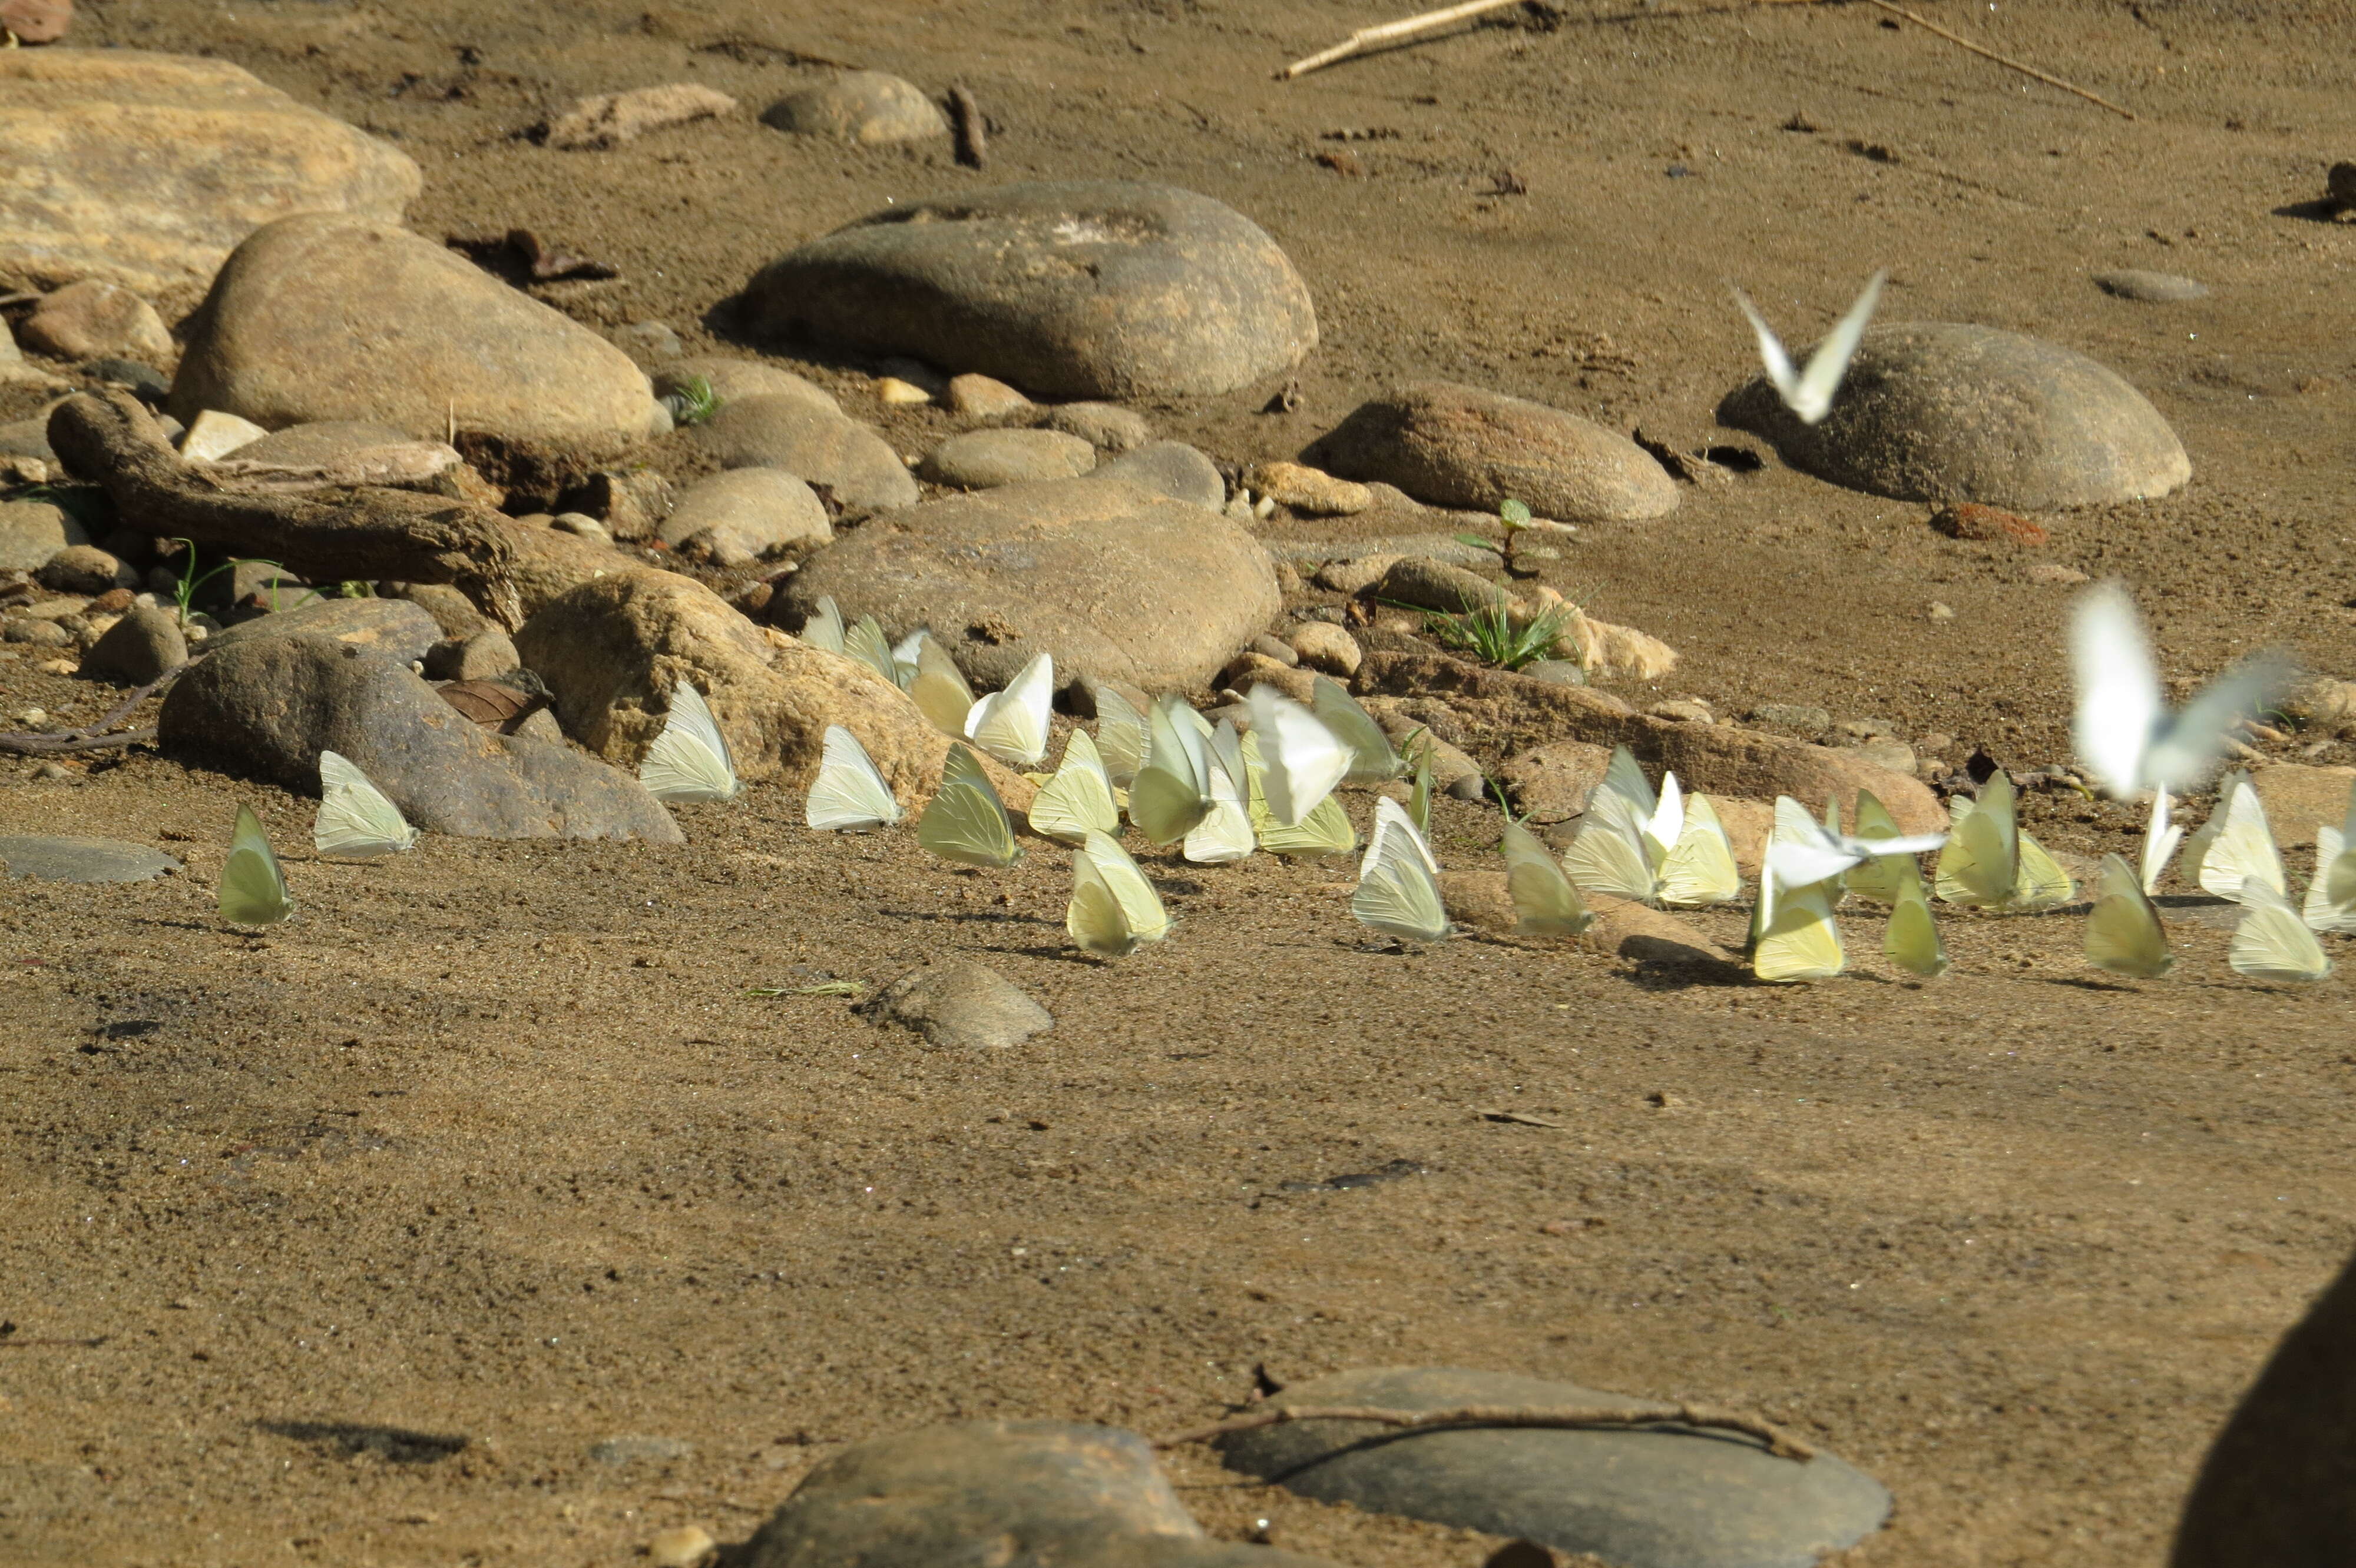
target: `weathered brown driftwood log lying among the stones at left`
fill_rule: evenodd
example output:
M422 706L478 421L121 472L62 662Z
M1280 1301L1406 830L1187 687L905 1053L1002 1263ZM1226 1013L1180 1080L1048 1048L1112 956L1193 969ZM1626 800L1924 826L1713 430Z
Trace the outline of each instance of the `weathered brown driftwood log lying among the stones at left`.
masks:
M141 532L276 560L313 582L445 582L502 626L523 622L507 518L488 506L379 485L283 494L254 478L217 476L181 461L139 400L120 391L59 403L49 447Z

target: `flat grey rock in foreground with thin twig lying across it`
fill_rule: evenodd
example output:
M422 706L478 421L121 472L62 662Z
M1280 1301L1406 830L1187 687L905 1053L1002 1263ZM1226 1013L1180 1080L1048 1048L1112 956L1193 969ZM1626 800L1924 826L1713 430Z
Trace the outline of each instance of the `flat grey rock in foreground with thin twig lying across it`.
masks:
M1286 1406L1626 1406L1567 1382L1463 1368L1366 1368L1291 1384ZM1220 1441L1232 1469L1348 1502L1623 1568L1812 1568L1890 1516L1882 1486L1819 1453L1781 1460L1755 1439L1663 1420L1640 1429L1286 1422Z

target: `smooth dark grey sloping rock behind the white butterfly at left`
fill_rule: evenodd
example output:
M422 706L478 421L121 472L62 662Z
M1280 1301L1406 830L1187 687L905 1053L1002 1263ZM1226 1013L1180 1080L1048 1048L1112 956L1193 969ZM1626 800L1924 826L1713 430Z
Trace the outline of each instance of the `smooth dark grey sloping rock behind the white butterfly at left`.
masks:
M158 739L304 793L318 789L318 753L342 751L412 824L459 838L681 841L631 775L492 735L405 664L323 636L214 647L172 685Z

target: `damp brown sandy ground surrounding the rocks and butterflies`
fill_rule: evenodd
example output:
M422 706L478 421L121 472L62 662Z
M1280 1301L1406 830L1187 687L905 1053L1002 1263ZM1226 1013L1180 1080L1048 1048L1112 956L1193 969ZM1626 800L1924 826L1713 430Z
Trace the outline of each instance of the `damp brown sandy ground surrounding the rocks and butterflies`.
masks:
M2349 7L1922 9L2142 118L1833 5L1574 5L1293 85L1268 73L1383 12L113 0L78 40L236 59L398 139L419 231L532 226L624 273L542 297L702 346L754 266L891 195L1206 191L1284 242L1324 332L1291 414L1258 412L1270 388L1150 410L1225 459L1421 374L1699 445L1748 374L1727 278L1807 337L1887 264L1890 318L2118 367L2191 487L2050 518L2040 553L1772 464L1689 492L1557 574L1685 652L1633 697L1819 702L2064 760L2066 589L2033 560L2127 574L2172 673L2283 643L2356 676L2356 228L2297 210L2356 146ZM968 82L990 170L749 115L613 153L518 134L662 80L756 111L810 54ZM1336 148L1359 177L1315 160ZM1503 172L1527 195L1494 195ZM2111 266L2215 294L2116 301L2087 283ZM909 447L947 428L874 417ZM9 711L104 706L26 669L0 664ZM686 808L679 850L290 857L302 916L250 942L212 918L240 798L309 843L309 803L151 753L66 784L0 768L0 831L188 859L0 890L9 1561L624 1563L671 1523L742 1540L846 1441L957 1415L1166 1431L1256 1363L1425 1361L1795 1424L1897 1493L1854 1563L2151 1563L2356 1229L2349 984L2243 982L2205 923L2172 928L2175 977L2113 986L2069 916L1958 918L1955 972L1915 986L1864 918L1859 975L1767 991L1520 942L1357 951L1345 873L1253 859L1157 866L1180 932L1107 968L1060 949L1060 855L959 873L907 836L815 838L756 789ZM2116 808L2029 810L2064 850L2130 843ZM1494 819L1444 805L1444 859L1489 845ZM1703 925L1734 942L1741 913ZM744 996L926 956L985 958L1055 1029L973 1059L841 998ZM1305 1189L1390 1161L1423 1172ZM693 1457L587 1457L617 1434ZM1268 1516L1341 1563L1489 1544L1176 1471L1211 1528Z

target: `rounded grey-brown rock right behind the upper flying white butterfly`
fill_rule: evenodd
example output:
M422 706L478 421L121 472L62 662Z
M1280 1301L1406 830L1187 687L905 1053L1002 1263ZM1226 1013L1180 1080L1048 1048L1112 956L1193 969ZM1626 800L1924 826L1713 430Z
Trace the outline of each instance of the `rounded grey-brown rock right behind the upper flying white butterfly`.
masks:
M1868 327L1821 424L1800 424L1765 377L1727 393L1718 421L1793 469L1901 501L2059 511L2168 494L2193 471L2118 372L1965 323Z

